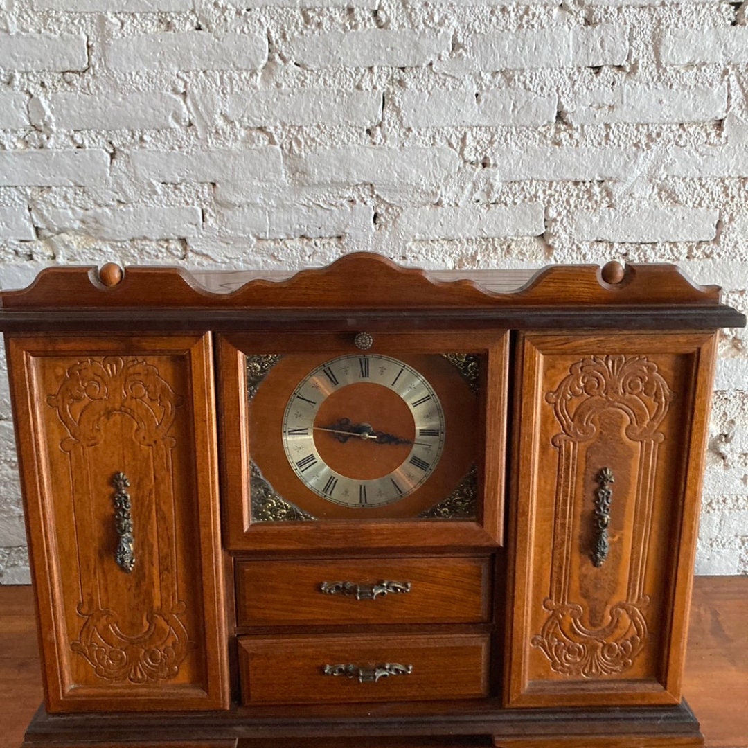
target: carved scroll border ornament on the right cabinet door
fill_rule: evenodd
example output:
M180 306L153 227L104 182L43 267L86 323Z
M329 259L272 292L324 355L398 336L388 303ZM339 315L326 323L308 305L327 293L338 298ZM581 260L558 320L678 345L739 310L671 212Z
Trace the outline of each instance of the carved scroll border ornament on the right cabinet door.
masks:
M646 551L652 522L654 474L657 444L663 435L657 430L668 411L672 393L657 370L644 356L606 355L584 358L572 364L568 375L545 396L554 407L561 432L552 444L558 450L557 493L551 565L551 590L544 602L548 617L532 645L540 649L560 675L600 678L630 669L643 650L648 635L644 611L649 598L643 584ZM628 420L625 435L640 450L635 521L625 601L612 604L609 622L601 628L583 625L586 612L569 600L571 553L574 548L574 484L579 445L598 434L599 417L614 409ZM612 476L612 473L611 473ZM591 508L592 518L596 508ZM607 525L606 525L607 530ZM592 562L595 556L592 554Z

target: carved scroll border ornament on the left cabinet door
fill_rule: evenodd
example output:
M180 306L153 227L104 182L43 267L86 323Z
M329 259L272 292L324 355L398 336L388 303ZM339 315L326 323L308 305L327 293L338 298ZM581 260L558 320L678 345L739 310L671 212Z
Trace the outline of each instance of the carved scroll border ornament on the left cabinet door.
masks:
M97 467L92 450L102 443L105 421L114 414L129 417L134 426L135 442L150 448L154 473L160 476L157 480L163 482L156 491L174 493L171 450L176 441L171 429L181 398L153 364L140 358L114 356L79 361L68 367L57 393L47 398L47 404L55 409L64 424L68 436L60 447L70 457L71 475L81 481L73 490L73 503L79 508L76 522L85 521L85 517L90 516L85 509L92 501L99 500L88 483ZM163 504L163 516L157 513L156 533L159 544L170 548L174 544L176 526L174 502L167 499ZM129 516L129 511L127 514ZM132 530L132 524L129 527ZM102 589L106 586L100 583L99 574L108 573L108 570L102 568L98 552L97 548L79 548L82 600L77 610L85 623L78 640L72 642L70 648L84 657L93 672L106 681L143 684L174 678L190 646L180 619L185 604L180 601L177 590L176 562L171 558L160 561L155 578L159 593L156 599L162 604L158 609L144 610L143 631L129 635L120 628L122 616L111 610L102 598ZM114 558L114 554L108 556ZM142 580L133 580L133 583L142 583Z

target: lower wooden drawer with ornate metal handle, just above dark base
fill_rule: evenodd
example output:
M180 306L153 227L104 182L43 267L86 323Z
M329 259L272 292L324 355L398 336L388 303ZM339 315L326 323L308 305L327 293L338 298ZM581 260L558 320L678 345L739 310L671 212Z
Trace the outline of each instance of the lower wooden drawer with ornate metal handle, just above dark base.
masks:
M242 637L239 667L248 705L479 698L488 635Z

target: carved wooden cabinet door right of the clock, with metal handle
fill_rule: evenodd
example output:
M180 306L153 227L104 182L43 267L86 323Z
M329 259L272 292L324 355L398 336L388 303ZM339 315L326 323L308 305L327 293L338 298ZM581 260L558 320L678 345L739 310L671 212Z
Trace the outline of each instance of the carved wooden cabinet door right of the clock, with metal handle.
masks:
M507 705L680 701L714 340L521 337Z

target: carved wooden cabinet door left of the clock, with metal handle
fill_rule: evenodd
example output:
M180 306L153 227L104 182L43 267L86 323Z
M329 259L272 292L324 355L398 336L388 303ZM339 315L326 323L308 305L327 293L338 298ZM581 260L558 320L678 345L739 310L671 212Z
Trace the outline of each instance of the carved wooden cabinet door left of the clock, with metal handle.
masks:
M7 343L47 708L226 708L209 337Z

